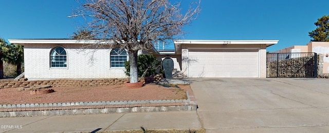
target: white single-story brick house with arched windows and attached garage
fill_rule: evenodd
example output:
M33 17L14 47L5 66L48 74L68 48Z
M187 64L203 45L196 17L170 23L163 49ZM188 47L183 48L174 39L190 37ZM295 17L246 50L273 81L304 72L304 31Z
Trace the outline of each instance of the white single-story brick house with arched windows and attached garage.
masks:
M125 50L86 47L98 40L9 39L24 46L25 77L125 78ZM174 51L150 51L173 59L184 77L266 77L266 47L278 40L175 40Z

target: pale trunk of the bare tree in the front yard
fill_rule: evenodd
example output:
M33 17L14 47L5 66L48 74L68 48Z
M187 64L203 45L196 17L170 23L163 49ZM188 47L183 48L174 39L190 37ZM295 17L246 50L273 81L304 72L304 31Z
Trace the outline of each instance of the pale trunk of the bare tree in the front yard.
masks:
M131 83L138 82L137 52L138 51L131 51L129 53L129 61L130 61L130 82Z

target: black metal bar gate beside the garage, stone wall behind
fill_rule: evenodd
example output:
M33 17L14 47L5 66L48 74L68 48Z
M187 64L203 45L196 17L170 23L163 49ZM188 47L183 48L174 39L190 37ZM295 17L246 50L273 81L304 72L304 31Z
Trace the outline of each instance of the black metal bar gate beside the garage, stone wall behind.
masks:
M268 53L266 77L316 78L317 53Z

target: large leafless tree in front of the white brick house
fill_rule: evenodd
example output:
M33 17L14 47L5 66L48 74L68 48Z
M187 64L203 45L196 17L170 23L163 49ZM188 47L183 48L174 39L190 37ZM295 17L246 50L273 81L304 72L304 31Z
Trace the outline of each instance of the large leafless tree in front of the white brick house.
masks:
M176 39L200 12L200 0L181 13L180 2L169 0L86 0L69 17L83 17L88 23L79 29L90 31L100 43L111 40L111 48L126 49L130 59L131 83L138 82L137 52L151 50L158 41ZM88 39L85 37L83 39Z

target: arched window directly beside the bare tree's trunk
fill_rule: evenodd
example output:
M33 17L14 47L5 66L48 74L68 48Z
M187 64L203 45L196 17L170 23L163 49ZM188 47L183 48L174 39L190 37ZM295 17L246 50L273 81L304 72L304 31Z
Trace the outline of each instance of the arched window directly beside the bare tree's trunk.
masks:
M124 67L124 61L127 61L127 52L124 49L113 49L110 58L111 67Z

